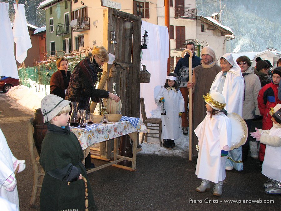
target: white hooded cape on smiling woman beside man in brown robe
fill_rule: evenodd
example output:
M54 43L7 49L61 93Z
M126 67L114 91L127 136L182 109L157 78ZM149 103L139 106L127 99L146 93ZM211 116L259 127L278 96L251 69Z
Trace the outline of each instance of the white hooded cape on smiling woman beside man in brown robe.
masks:
M243 100L244 100L244 78L241 69L233 58L232 54L226 53L223 56L233 67L226 74L225 82L223 85L222 95L225 98L225 110L228 113L237 113L241 117L243 115ZM211 92L218 92L223 72L219 72L210 88Z

